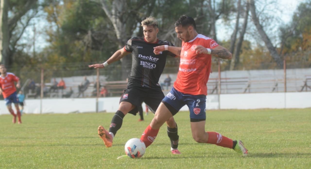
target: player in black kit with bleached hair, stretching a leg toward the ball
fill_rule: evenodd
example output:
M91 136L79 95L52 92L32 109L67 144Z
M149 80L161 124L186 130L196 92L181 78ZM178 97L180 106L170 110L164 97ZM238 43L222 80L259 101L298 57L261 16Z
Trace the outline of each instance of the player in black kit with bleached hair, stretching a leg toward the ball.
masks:
M106 147L112 146L112 140L121 128L123 118L126 114L136 115L138 108L145 102L152 112L155 112L165 97L159 85L159 78L163 72L166 56L176 56L169 51L163 51L155 55L153 48L161 45L174 46L171 42L162 41L157 38L159 32L158 21L148 17L142 21L143 37L133 37L128 40L123 49L119 49L104 64L93 64L89 67L104 68L124 56L132 53L132 69L128 76L127 89L124 90L120 99L118 111L114 114L109 127L109 132L104 127L98 127L98 134L104 141ZM171 141L171 152L180 154L178 151L179 136L177 124L174 118L165 120L167 123L167 134Z

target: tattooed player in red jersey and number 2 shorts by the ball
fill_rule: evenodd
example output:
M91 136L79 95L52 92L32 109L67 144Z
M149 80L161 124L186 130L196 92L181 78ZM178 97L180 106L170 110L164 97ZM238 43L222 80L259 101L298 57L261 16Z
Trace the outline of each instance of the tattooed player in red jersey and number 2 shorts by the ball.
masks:
M232 54L220 46L213 39L196 31L196 24L189 16L180 16L175 23L177 37L181 39L182 47L159 46L154 48L154 53L170 51L180 55L180 64L177 79L172 90L162 100L156 110L151 124L142 134L141 140L146 147L156 138L162 124L187 105L190 110L190 122L193 139L198 143L210 143L234 149L236 152L247 155L240 140L231 140L217 132L206 132L206 83L211 71L211 56L221 59L231 59ZM148 139L148 138L153 139Z

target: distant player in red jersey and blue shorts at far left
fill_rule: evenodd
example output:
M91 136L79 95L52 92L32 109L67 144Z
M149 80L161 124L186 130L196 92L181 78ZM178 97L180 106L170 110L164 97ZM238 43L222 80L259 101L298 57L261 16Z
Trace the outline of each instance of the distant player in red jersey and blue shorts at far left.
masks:
M7 72L4 64L0 64L0 95L3 95L4 100L6 101L7 109L14 116L13 123L16 123L16 114L18 117L18 124L21 124L21 112L18 108L19 101L16 96L16 88L14 82L16 82L16 87L20 88L21 84L19 78L13 73ZM16 108L16 114L14 113L11 103L14 103Z

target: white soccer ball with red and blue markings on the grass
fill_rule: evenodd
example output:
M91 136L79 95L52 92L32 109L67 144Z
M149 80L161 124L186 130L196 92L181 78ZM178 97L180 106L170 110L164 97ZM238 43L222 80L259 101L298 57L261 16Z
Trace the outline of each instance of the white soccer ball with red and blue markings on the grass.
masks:
M140 158L146 151L146 145L142 140L133 138L126 142L124 147L126 155L130 158Z

